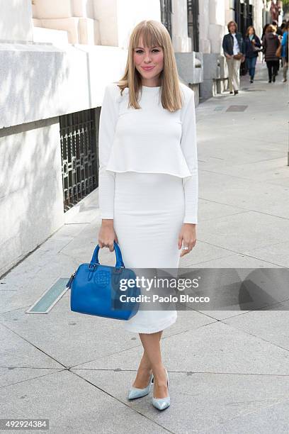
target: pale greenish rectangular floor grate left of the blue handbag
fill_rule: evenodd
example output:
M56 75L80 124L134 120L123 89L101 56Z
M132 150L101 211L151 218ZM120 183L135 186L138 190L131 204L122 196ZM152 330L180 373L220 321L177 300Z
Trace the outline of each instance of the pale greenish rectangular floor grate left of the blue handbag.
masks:
M68 280L69 277L58 279L55 284L40 296L40 299L35 301L35 304L33 304L26 313L48 313L67 291L68 288L65 285Z

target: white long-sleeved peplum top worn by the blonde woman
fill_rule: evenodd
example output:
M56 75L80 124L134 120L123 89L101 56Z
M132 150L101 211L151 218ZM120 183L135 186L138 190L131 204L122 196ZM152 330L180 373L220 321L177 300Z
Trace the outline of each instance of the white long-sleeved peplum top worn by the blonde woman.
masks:
M98 199L101 218L113 218L115 172L165 173L183 179L183 223L198 223L198 155L192 89L180 82L181 109L162 106L161 87L142 86L141 109L128 109L128 88L120 95L106 86L98 133Z

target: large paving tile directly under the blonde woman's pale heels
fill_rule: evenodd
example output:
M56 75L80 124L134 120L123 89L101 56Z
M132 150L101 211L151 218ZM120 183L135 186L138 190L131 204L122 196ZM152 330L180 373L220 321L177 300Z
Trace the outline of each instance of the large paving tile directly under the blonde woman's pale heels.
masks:
M169 371L171 406L159 412L151 404L152 390L142 399L127 399L135 372L90 369L73 371L170 432L180 434L201 433L215 425L218 427L219 424L229 423L232 418L242 418L244 413L262 411L289 394L289 376ZM266 418L265 414L264 417ZM237 431L230 431L235 432ZM249 432L251 430L246 431Z

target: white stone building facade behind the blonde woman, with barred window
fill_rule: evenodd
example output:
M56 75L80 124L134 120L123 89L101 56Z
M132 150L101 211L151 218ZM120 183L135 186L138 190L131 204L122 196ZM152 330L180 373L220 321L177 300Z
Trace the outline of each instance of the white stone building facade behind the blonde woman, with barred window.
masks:
M123 74L132 28L144 19L164 23L197 103L203 69L183 0L0 0L0 6L3 275L97 189L101 101L106 84Z

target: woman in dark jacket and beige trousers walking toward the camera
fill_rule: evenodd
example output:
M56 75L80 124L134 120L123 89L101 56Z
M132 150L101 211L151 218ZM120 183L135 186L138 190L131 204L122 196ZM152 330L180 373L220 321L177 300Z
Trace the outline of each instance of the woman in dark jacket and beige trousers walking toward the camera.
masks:
M245 60L245 45L242 34L237 32L235 21L229 21L227 28L229 33L223 38L222 48L228 65L229 93L237 95L240 87L240 65Z

